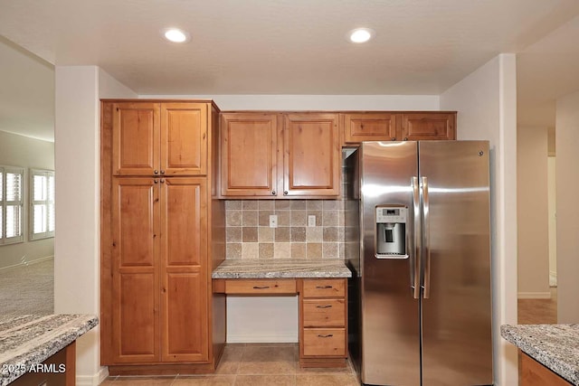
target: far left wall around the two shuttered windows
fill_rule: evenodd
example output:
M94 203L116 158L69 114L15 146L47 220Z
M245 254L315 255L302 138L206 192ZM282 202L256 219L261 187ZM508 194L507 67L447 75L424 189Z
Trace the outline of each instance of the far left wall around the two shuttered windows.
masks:
M30 168L54 170L52 142L0 131L0 165L24 168L24 242L0 246L0 269L52 258L54 239L29 240Z

